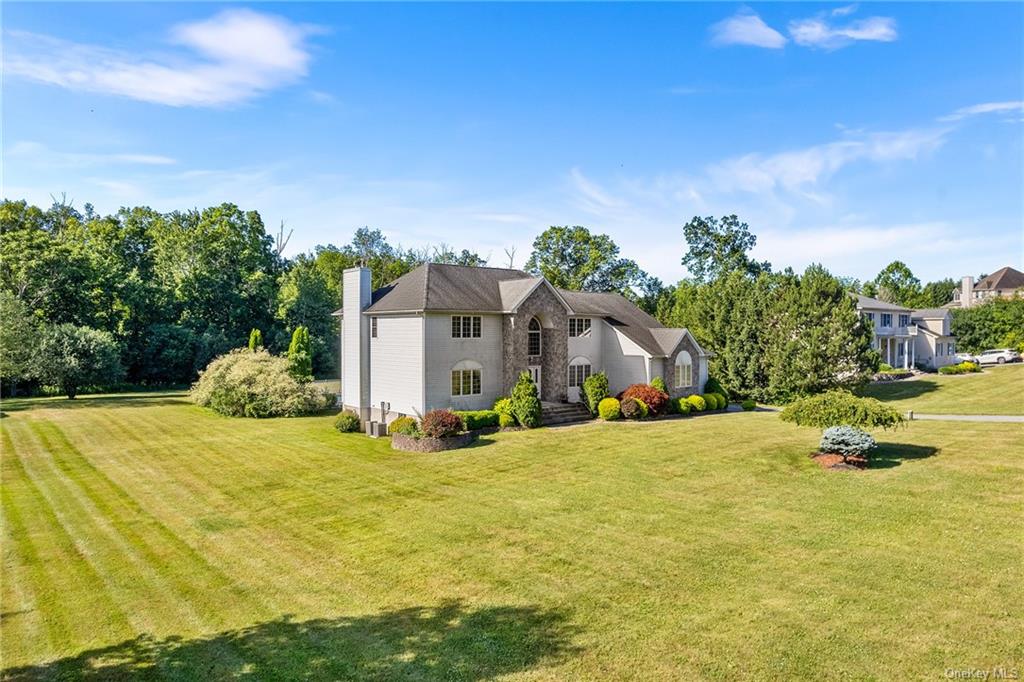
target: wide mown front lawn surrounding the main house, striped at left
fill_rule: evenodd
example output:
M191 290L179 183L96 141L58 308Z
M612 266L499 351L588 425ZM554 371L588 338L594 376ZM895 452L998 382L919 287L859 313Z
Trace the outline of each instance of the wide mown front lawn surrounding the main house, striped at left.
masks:
M175 395L7 401L4 679L1024 668L1024 426L827 472L771 413L436 455Z

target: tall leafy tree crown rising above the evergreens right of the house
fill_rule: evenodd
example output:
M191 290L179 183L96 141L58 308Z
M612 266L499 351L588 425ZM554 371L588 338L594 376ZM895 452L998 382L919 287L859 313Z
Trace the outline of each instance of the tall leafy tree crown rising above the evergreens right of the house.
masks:
M683 238L689 249L682 263L697 283L717 280L733 270L752 276L771 270L768 261L758 262L748 255L758 238L735 215L693 216L683 225Z

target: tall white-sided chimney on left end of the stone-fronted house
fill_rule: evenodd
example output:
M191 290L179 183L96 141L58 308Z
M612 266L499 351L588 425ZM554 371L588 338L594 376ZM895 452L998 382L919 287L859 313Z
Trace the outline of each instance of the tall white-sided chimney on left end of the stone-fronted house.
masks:
M342 402L370 419L370 321L362 311L370 307L370 268L351 267L341 275L341 395Z

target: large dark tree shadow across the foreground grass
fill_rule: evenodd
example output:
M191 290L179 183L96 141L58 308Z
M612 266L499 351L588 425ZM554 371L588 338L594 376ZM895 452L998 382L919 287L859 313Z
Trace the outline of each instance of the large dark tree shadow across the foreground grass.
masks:
M471 610L461 602L358 617L283 616L209 637L140 635L4 680L444 679L482 680L557 663L575 651L565 613L534 607Z

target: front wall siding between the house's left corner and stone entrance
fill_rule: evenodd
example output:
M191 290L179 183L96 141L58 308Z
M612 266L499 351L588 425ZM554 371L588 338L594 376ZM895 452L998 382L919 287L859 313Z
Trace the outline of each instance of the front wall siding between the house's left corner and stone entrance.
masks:
M453 339L452 315L427 313L425 410L489 410L502 390L502 316L480 315L480 338ZM452 395L452 368L475 360L480 372L480 395ZM543 379L542 379L543 380Z

